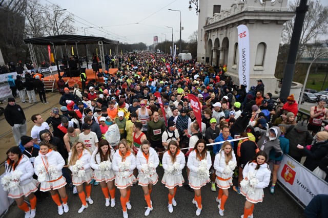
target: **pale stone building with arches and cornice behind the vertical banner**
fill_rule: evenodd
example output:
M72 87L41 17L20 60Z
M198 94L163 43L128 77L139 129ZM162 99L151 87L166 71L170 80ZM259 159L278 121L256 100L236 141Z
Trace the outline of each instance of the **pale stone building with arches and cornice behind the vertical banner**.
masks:
M274 93L282 25L295 15L288 11L287 2L199 0L197 60L212 66L227 65L227 74L239 84L237 26L243 24L250 35L250 85L262 79L265 93Z

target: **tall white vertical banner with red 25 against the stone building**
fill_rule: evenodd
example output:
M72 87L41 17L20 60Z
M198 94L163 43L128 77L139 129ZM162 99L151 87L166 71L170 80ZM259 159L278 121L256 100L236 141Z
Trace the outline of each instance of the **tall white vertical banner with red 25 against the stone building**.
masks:
M250 85L250 34L247 26L239 25L238 30L238 49L239 49L239 83L247 85L246 92Z

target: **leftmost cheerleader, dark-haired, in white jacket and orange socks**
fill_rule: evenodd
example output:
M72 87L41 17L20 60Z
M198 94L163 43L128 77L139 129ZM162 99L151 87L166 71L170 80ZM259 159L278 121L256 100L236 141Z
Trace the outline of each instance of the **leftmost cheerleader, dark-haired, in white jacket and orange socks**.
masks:
M11 147L7 152L7 162L5 163L6 176L14 175L16 173L23 173L15 182L19 185L15 189L8 191L8 198L14 199L19 209L25 212L25 218L35 217L36 197L34 192L37 190L38 181L32 178L34 175L33 165L29 158L22 154L19 147ZM24 196L30 200L31 208L28 207L24 201Z

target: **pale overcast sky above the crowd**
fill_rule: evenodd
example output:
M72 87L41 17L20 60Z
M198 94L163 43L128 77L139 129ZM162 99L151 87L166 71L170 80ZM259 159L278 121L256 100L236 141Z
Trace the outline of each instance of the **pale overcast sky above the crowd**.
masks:
M221 1L234 2L234 0ZM189 11L189 0L40 0L40 2L48 5L49 2L57 4L62 9L67 9L65 13L70 12L91 23L75 17L76 34L84 35L82 27L103 27L103 29L94 28L86 31L89 35L106 35L106 38L120 42L144 42L149 46L153 44L155 35L159 37L158 42L165 41L165 37L167 40L172 40L172 29L167 26L173 28L173 40L178 40L180 13L168 9L181 11L183 40L188 41L188 37L198 28L195 5L192 5L193 9ZM320 2L325 6L328 5L328 0L320 0Z

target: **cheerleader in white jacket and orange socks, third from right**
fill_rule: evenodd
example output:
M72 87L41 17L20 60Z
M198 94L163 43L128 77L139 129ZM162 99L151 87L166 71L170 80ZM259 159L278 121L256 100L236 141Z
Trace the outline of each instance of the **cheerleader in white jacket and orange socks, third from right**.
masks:
M211 181L210 177L199 178L197 176L198 167L200 166L200 161L202 160L206 161L206 169L210 170L212 166L210 152L207 150L206 141L199 139L196 142L194 149L190 152L187 162L187 167L190 170L188 178L189 186L195 191L195 197L192 202L197 206L197 216L200 215L202 209L200 188Z

